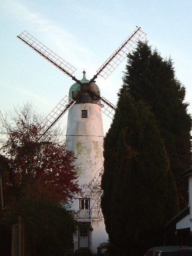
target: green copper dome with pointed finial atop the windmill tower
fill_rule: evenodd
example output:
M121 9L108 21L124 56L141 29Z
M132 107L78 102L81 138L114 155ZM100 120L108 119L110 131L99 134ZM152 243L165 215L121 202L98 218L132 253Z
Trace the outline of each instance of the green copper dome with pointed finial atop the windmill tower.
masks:
M85 76L85 71L83 71L83 79L81 79L81 83L82 84L87 84L90 80L88 80ZM77 92L81 90L81 85L78 84L78 83L75 83L73 84L71 87L70 87L70 90L69 90L69 97L71 99L74 98L74 96L77 95ZM96 94L100 95L100 90L99 90L99 87L96 85L96 83L91 83L90 84L90 90L92 90L93 92L95 92ZM87 94L87 93L85 93Z

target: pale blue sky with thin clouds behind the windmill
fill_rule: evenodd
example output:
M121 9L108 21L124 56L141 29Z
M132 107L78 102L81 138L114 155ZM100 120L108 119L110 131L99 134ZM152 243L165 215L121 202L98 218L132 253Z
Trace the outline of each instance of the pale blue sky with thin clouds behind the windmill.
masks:
M171 55L192 113L192 0L1 0L0 14L2 113L27 101L49 113L73 84L16 38L23 30L76 67L78 79L84 68L90 79L135 26L162 57ZM125 64L108 79L96 80L102 96L114 104ZM106 132L111 120L103 119Z

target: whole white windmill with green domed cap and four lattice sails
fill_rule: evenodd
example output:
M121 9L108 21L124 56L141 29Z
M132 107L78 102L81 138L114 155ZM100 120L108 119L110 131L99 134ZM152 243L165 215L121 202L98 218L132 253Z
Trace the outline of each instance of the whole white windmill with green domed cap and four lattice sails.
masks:
M66 145L74 151L76 171L79 174L79 184L89 183L103 166L103 125L102 112L113 118L116 106L100 96L99 87L95 83L97 76L105 79L135 49L138 40L143 40L145 33L137 27L131 35L113 52L113 54L96 71L92 79L87 80L85 71L83 79L73 76L76 70L67 61L52 52L44 44L23 31L17 36L21 41L34 49L38 54L51 62L76 83L70 87L69 97L65 96L61 102L44 119L44 134L68 112ZM39 139L44 135L42 134ZM102 219L93 211L92 198L81 196L73 201L73 209L78 210L76 218L79 221L78 234L74 238L74 249L89 248L96 253L99 243L105 242L108 235Z

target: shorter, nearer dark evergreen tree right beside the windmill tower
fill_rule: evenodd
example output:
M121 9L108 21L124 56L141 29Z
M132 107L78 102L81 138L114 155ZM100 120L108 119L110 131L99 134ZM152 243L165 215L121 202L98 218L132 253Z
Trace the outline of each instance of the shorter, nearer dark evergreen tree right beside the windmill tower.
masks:
M141 256L161 243L177 192L154 115L124 86L104 141L102 212L111 255Z

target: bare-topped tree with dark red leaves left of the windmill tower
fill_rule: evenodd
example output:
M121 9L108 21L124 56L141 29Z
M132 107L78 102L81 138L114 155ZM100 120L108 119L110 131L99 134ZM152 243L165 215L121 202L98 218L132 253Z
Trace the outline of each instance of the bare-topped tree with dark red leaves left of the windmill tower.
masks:
M72 200L80 192L73 152L51 134L38 141L43 126L30 104L15 109L10 117L11 122L6 117L1 123L7 133L2 150L9 165L4 189L11 194L11 201L21 196L55 203Z

